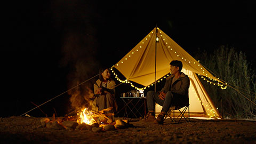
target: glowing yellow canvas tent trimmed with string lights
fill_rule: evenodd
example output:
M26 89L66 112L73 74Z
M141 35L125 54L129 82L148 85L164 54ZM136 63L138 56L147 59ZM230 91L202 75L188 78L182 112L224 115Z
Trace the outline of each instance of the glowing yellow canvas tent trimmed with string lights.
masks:
M225 84L157 27L113 66L126 79L119 79L113 67L111 69L120 82L130 83L132 86L134 86L132 82L138 83L145 87L136 87L136 89L143 90L153 86L155 80L156 82L162 81L170 75L169 63L172 60L182 61L182 72L190 78L190 116L221 118L199 78L203 78L209 84L220 86L222 89L225 88L223 87ZM156 113L159 113L161 108L156 105Z

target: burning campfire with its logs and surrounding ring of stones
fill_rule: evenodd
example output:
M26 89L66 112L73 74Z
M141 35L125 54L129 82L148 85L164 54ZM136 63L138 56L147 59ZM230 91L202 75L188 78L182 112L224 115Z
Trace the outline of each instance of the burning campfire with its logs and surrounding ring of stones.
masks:
M46 127L55 130L92 130L93 132L111 131L125 129L132 125L126 119L116 119L115 122L110 116L112 113L107 113L112 107L100 111L92 111L84 108L77 113L77 116L44 117L41 119L41 127Z

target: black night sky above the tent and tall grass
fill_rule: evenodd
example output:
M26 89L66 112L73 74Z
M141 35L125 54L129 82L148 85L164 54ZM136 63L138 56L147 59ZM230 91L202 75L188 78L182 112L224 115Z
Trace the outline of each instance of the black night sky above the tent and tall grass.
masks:
M34 107L31 102L39 105L68 90L70 79L83 81L100 66L113 66L156 25L188 53L228 44L255 64L251 1L53 0L3 6L2 116L21 115Z

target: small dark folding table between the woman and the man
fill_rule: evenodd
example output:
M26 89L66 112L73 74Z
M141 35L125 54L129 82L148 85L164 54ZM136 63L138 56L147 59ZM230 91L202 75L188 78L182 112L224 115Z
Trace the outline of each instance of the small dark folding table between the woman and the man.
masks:
M141 117L146 115L146 98L142 98L142 97L120 97L120 98L124 102L124 107L121 110L119 110L119 112L124 109L125 110L124 117L127 117L128 120L129 120L130 114L133 114L136 118L138 118L137 114L139 114ZM136 100L137 100L137 102L134 104L133 101L136 101ZM140 102L142 102L141 106L138 105ZM138 108L137 108L137 106L138 106ZM139 110L141 108L144 108L144 110L143 110L144 114L140 113ZM131 117L131 119L132 119L132 117ZM131 121L131 119L130 119L130 121Z

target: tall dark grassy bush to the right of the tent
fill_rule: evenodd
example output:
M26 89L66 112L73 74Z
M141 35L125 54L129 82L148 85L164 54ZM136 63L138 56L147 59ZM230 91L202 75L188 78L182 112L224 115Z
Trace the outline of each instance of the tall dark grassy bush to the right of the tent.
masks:
M204 51L195 57L212 70L210 72L213 75L228 83L227 89L222 90L202 81L221 115L224 118L255 118L256 76L254 70L249 67L246 55L238 53L234 47L220 46L212 54Z

